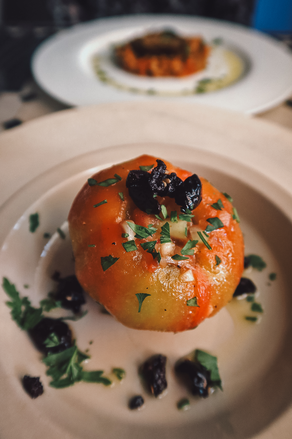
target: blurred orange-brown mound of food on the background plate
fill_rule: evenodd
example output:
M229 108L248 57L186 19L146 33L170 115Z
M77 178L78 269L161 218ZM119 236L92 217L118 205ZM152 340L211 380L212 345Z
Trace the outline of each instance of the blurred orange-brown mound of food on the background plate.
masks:
M203 70L210 47L200 36L181 37L173 31L155 32L115 49L127 72L141 76L186 76Z

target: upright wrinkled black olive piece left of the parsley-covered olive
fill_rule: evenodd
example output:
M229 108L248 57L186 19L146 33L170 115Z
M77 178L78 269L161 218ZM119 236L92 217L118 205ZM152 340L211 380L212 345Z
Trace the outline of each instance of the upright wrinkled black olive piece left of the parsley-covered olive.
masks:
M165 377L166 356L157 354L151 356L141 366L141 374L148 390L154 395L160 395L167 388Z

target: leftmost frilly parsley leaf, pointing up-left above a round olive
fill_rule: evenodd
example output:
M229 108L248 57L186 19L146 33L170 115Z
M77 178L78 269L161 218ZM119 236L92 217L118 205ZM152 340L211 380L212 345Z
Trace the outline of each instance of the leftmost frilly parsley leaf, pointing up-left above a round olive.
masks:
M28 330L33 328L42 320L42 308L34 308L28 297L19 296L19 292L14 284L11 284L7 277L3 278L3 289L11 298L10 302L6 302L11 308L11 317L21 329Z

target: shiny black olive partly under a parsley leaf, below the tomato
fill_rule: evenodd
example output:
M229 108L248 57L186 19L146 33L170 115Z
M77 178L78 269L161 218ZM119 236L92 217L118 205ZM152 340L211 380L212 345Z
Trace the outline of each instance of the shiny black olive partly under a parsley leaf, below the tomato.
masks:
M209 396L211 373L206 367L191 360L183 360L176 364L175 372L192 395L203 398Z

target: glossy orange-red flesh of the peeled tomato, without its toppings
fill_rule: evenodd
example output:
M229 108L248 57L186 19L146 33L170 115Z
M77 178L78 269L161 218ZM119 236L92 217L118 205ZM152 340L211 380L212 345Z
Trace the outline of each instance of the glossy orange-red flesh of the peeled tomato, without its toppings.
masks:
M209 235L208 243L212 250L199 241L195 253L184 261L168 257L157 259L141 248L140 242L154 241L159 250L161 226L168 221L170 212L180 213L180 206L173 198L158 197L164 204L169 218L163 222L154 215L148 215L136 207L129 197L126 178L130 170L139 166L156 166L155 157L143 155L129 162L104 169L92 176L98 182L119 175L122 180L108 186L89 186L86 182L77 194L69 212L69 232L75 258L75 273L78 281L93 299L102 303L106 309L122 324L137 329L179 332L197 327L206 317L218 312L231 299L243 272L244 244L243 237L235 219L232 219L232 204L207 180L201 178L202 202L193 210L192 223L183 222L188 228L188 236L172 238L180 250L190 239L190 230L197 227L204 230L207 219L218 216L224 227L214 230ZM190 172L179 169L163 160L167 170L175 172L185 180ZM123 193L124 201L119 192ZM211 204L222 200L222 211ZM107 203L96 208L93 205L106 200ZM162 216L162 215L161 215ZM125 221L147 227L153 224L157 232L148 240L135 239L137 250L126 252L122 243ZM95 245L95 247L88 247ZM112 255L119 258L106 271L102 270L101 257ZM215 255L222 262L216 266ZM183 279L184 273L192 273L193 280ZM146 293L138 313L137 293ZM187 306L186 301L197 297L196 306Z

